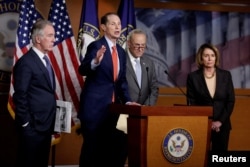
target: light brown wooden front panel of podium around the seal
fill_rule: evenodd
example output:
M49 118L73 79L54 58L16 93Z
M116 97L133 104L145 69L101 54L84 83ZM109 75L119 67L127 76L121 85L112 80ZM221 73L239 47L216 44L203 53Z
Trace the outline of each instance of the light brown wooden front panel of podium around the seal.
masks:
M206 149L207 149L207 130L208 118L205 116L148 116L147 124L147 167L194 167L206 166ZM184 129L190 134L188 140L178 133L171 138L174 130ZM164 153L164 142L169 140L171 147L170 154ZM185 139L185 141L184 141ZM178 140L183 143L192 142L189 152L190 156L182 152L182 148L177 148ZM179 144L180 146L180 144ZM190 151L189 149L189 151ZM185 150L184 150L185 151ZM182 155L183 154L183 155ZM169 156L171 155L171 156ZM172 156L174 155L174 156ZM169 160L170 159L170 160ZM172 161L172 162L171 162Z

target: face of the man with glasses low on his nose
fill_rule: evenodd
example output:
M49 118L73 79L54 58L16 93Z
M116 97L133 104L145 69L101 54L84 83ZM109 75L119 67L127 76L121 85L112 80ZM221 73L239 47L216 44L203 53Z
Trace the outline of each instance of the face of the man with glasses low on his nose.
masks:
M146 36L144 34L133 34L128 41L128 49L135 58L141 57L146 48Z

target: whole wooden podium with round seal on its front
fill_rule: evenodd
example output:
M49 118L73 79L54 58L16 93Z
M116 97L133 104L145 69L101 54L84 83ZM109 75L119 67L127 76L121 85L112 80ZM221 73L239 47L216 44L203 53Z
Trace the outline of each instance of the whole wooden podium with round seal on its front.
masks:
M129 115L127 119L129 167L207 166L212 107L150 107L117 104L112 104L110 107L111 112ZM185 138L179 134L181 131L189 136ZM175 143L178 141L175 140L182 138L185 139L183 143L189 143L188 150L191 151L187 151L187 155L178 157L181 154L178 151L182 150L180 147L177 149ZM166 143L168 139L169 145ZM174 145L171 146L172 143ZM177 153L177 158L165 152L168 146L174 148L173 153Z

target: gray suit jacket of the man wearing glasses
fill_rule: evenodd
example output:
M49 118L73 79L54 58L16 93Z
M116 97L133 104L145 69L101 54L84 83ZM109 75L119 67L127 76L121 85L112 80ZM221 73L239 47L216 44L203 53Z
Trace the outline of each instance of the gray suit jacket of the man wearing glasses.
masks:
M158 98L158 82L153 61L146 56L140 58L142 69L141 88L138 85L136 74L129 56L127 55L126 78L129 86L129 94L132 101L142 105L155 105Z

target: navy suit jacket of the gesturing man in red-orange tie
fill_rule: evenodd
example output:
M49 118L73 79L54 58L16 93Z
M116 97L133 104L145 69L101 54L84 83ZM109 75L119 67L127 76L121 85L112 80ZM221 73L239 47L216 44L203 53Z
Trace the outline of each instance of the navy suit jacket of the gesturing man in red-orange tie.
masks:
M104 45L107 50L96 69L91 69L91 61L96 57L97 51ZM128 85L126 81L126 53L124 49L116 45L120 69L118 79L113 79L113 64L111 51L105 37L92 42L85 58L79 66L79 73L86 76L86 80L80 95L80 110L78 117L85 128L96 129L107 119L108 106L112 103L112 95L115 93L115 103L125 104L130 101ZM118 117L117 117L118 119ZM116 124L117 120L114 120Z

